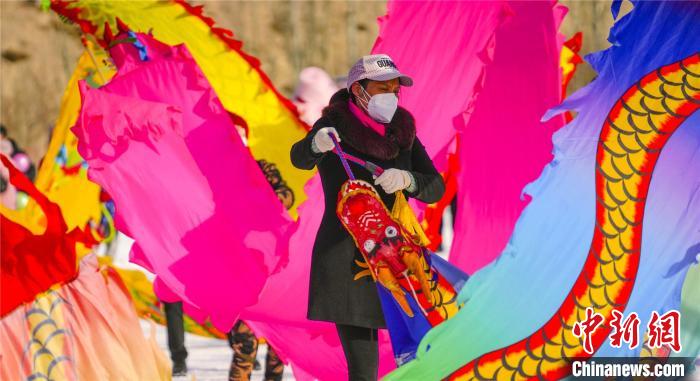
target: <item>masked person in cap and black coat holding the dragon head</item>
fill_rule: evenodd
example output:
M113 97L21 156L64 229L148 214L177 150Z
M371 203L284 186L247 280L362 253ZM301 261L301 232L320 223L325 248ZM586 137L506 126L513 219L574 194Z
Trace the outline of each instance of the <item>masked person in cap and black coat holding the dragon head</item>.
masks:
M295 167L318 168L325 201L312 253L307 317L336 324L352 381L377 379L377 329L386 324L376 285L363 272L364 258L336 215L338 192L348 176L331 152L330 135L346 153L385 169L374 179L350 163L357 179L375 184L389 210L396 191L426 203L438 201L445 191L442 177L416 137L413 117L397 106L400 87L412 83L389 56L362 57L350 70L347 89L333 95L311 131L291 149Z

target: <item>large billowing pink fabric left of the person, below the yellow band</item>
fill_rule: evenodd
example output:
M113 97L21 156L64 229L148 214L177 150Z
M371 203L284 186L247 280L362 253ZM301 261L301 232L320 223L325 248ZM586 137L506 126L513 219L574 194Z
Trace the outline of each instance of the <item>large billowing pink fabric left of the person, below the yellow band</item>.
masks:
M286 262L294 225L185 46L132 36L110 50L107 85L80 84L78 148L159 297L227 331Z

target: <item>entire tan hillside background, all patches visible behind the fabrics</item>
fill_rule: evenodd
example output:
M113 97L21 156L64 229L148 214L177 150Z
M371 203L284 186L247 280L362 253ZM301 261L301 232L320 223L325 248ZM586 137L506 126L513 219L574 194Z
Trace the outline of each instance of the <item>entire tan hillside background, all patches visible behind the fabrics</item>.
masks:
M197 2L202 3L202 2ZM369 53L377 36L384 1L206 1L205 14L244 41L280 91L291 96L298 73L318 66L344 76ZM561 28L584 33L582 53L607 46L610 2L563 1L569 6ZM624 9L623 9L624 13ZM37 1L0 1L0 121L38 162L46 150L61 95L82 53L76 26L64 24ZM578 88L592 77L583 65Z

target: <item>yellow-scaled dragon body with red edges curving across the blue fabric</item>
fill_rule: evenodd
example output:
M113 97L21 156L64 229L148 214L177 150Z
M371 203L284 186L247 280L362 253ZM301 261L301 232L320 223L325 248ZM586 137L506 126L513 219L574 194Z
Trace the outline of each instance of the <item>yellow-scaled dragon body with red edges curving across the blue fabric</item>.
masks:
M634 286L641 253L647 192L664 145L700 106L700 54L645 75L615 103L596 154L595 231L583 270L557 312L529 337L486 353L450 380L555 380L570 373L573 358L587 358L572 333L586 308L604 317L592 334L597 350L610 333L613 311L622 312Z

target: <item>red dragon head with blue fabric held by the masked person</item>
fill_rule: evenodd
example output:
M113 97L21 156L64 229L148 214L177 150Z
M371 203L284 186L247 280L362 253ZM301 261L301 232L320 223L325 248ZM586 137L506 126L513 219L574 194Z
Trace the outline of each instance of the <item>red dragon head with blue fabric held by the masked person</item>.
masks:
M430 328L457 313L457 292L467 277L427 251L415 228L401 223L396 212L392 215L372 185L355 179L347 160L363 165L374 176L383 170L346 154L332 139L349 177L338 193L336 214L362 253L365 263L359 265L367 268L377 284L394 358L400 366L415 357L420 339ZM410 211L403 197L397 192L396 202Z

